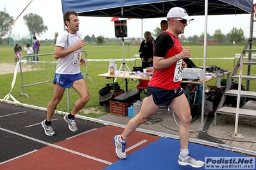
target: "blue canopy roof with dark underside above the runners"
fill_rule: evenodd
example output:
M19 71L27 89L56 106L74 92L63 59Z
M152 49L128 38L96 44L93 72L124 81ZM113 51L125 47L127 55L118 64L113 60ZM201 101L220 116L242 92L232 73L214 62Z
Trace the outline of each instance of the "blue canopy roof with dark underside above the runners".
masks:
M62 0L62 12L75 10L80 16L158 18L174 6L189 15L205 15L205 0ZM123 10L122 10L123 9ZM253 0L208 0L208 15L253 13Z

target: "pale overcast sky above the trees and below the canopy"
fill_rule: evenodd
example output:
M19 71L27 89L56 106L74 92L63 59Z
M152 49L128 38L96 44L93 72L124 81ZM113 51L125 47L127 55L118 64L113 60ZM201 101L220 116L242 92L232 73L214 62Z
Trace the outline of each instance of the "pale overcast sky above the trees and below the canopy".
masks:
M22 10L30 3L31 0L0 0L0 10L11 15L13 19L17 19ZM74 1L75 3L75 1ZM185 9L189 13L189 9ZM48 27L48 31L41 36L37 36L38 40L45 40L46 38L54 39L55 33L60 33L64 30L64 22L62 17L62 3L60 0L33 0L32 3L24 10L21 16L16 20L15 25L12 26L12 33L19 34L22 38L24 35L29 35L28 27L25 26L23 17L28 13L34 13L41 16L44 20L44 25ZM105 37L115 37L114 22L112 18L106 17L79 17L80 32L84 37L86 35ZM127 20L128 37L141 37L144 31L151 31L155 27L160 27L160 21L165 18L158 19L131 19ZM142 24L143 23L143 24ZM142 26L143 25L143 26ZM244 15L212 15L208 16L208 33L214 34L216 29L221 29L223 34L230 32L232 27L241 28L244 30L244 35L249 36L250 32L250 14ZM187 27L185 27L185 37L198 35L204 33L205 17L195 16Z

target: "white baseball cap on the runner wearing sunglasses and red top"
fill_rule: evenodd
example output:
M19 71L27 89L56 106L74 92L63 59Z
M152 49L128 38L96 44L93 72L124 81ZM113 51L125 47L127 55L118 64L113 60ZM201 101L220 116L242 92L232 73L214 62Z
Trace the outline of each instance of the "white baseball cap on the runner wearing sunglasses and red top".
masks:
M187 15L186 10L180 7L173 7L169 12L167 13L166 16L167 19L175 19L175 18L182 18L185 20L194 20L194 18L190 17Z

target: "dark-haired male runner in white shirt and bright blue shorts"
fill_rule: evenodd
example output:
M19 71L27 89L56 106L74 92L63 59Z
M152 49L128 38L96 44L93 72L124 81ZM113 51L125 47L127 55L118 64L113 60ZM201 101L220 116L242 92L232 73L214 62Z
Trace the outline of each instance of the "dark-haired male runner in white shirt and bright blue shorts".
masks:
M80 98L74 104L73 110L64 116L69 129L76 132L76 122L74 116L80 111L90 99L86 82L81 75L80 65L85 66L86 61L81 57L81 48L85 46L79 30L78 13L67 11L63 15L67 29L58 35L55 45L55 58L58 59L55 78L53 83L53 98L47 107L46 120L42 121L42 127L46 135L55 135L51 127L51 118L53 113L64 95L65 88L73 87L80 95Z

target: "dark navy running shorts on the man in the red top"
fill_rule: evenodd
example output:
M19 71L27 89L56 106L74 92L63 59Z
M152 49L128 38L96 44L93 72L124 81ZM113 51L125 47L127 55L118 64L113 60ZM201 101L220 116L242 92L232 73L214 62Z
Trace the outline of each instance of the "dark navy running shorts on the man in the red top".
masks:
M148 86L147 95L153 95L153 100L156 105L169 105L176 97L183 94L183 89L161 89L157 87Z

